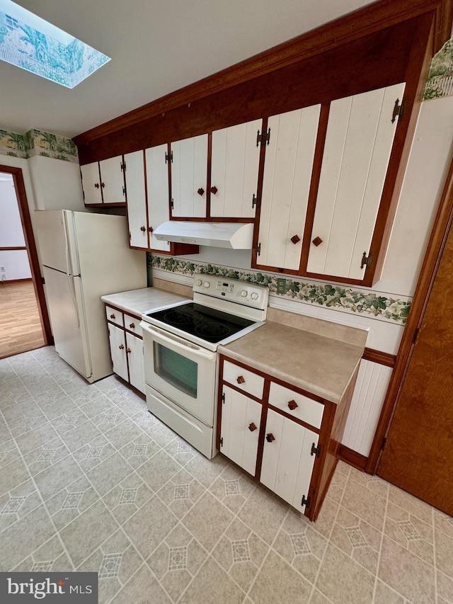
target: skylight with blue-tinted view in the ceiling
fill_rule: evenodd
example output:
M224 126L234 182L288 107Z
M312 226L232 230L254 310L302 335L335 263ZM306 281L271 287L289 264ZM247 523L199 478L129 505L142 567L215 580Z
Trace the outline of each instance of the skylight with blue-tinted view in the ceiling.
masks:
M0 0L0 59L67 88L110 61L11 0Z

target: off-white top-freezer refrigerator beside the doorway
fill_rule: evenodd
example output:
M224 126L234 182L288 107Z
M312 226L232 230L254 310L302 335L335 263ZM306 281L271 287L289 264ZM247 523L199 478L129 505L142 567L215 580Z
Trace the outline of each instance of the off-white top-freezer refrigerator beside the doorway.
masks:
M95 382L113 372L101 296L147 287L146 253L130 249L123 216L36 210L34 219L55 349Z

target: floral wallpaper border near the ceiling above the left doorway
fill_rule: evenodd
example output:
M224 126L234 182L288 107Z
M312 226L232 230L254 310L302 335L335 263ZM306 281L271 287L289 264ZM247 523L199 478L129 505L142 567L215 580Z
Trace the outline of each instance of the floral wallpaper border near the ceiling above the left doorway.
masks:
M23 159L41 155L79 163L77 147L70 138L34 129L28 130L23 135L0 130L0 155Z

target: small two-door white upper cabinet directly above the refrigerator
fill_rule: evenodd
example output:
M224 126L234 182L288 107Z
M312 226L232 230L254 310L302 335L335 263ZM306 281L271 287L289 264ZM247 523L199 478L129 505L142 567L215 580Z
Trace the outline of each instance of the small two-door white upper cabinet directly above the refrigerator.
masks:
M125 203L125 177L122 165L122 155L119 155L81 166L85 205Z

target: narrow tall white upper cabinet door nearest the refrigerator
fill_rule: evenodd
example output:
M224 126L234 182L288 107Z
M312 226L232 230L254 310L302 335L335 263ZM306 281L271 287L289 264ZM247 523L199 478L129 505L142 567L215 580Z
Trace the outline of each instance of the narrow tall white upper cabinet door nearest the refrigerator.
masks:
M147 199L144 189L143 152L125 155L125 181L127 196L127 222L130 245L148 249Z

